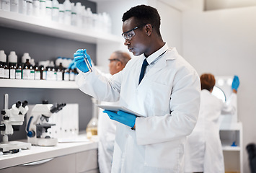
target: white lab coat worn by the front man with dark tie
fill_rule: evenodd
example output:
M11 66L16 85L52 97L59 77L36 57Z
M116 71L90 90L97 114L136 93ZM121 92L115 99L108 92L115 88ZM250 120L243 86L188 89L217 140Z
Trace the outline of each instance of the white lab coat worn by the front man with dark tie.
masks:
M200 79L175 48L167 49L165 44L148 57L158 60L150 63L139 85L144 56L128 61L110 80L94 68L77 78L82 92L107 102L120 100L120 105L144 115L136 118L136 130L118 124L112 173L184 171L185 139L199 112Z

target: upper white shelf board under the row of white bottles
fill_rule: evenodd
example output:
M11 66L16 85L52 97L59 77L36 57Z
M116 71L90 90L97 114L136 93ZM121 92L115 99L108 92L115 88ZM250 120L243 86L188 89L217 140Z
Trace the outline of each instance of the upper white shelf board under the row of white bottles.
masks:
M122 37L118 35L86 30L84 28L65 25L39 17L27 16L16 12L6 12L1 9L0 26L53 37L62 37L84 43L122 43L123 41Z

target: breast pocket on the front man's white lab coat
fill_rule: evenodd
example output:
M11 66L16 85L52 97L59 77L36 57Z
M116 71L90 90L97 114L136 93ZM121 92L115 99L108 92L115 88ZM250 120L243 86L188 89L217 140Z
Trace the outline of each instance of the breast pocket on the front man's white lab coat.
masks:
M152 116L163 116L169 113L169 101L172 88L170 86L149 81L147 99Z

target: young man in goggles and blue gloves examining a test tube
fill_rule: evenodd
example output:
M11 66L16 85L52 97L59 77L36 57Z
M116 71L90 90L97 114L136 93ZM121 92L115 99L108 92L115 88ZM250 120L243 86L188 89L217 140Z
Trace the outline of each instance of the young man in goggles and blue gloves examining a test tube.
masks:
M123 14L124 45L138 57L110 79L94 66L89 71L86 50L74 53L82 92L100 101L119 100L120 106L142 115L105 110L119 122L112 173L184 172L186 136L198 119L200 79L176 48L164 43L159 28L159 13L151 6L134 6Z

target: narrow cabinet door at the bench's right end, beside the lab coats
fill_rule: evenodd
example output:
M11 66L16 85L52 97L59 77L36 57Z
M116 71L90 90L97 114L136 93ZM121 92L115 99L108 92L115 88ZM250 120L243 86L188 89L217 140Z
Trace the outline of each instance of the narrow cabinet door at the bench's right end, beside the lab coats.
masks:
M76 172L98 172L97 149L76 154Z

